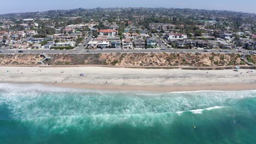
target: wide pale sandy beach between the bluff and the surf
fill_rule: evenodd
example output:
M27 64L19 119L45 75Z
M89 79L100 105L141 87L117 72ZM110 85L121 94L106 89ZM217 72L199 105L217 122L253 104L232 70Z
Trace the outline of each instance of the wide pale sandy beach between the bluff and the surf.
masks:
M54 87L127 91L235 91L256 89L256 71L248 69L234 71L107 67L0 67L0 82L42 83Z

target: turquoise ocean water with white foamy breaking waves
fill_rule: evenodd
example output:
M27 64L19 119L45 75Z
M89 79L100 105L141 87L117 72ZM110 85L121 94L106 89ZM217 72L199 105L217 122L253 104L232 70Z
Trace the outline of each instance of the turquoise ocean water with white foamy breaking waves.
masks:
M110 92L0 84L0 143L255 142L256 91Z

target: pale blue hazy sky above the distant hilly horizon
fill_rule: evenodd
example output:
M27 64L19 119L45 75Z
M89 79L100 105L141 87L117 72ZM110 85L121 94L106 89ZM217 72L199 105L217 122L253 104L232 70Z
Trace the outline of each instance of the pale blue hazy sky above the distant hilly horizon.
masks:
M256 0L0 0L0 3L0 14L97 7L192 8L256 13Z

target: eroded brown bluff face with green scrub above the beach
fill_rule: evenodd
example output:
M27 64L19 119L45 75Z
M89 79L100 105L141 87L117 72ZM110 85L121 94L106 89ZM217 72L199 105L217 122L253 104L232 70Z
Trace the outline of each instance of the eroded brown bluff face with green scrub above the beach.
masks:
M197 67L245 64L235 53L89 53L53 54L49 65L120 65L120 66L178 66ZM39 65L39 54L0 55L1 65ZM251 56L256 61L256 56Z

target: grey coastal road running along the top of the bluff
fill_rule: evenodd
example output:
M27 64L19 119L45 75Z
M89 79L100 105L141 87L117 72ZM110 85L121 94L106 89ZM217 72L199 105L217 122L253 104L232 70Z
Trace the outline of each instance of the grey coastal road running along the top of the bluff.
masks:
M195 52L203 52L204 50L191 50L191 49L142 49L142 50L120 50L120 49L97 49L90 50L90 52L86 52L86 50L22 50L23 52L18 52L19 50L1 50L0 54L9 54L9 53L160 53L160 52L184 52L184 53L195 53ZM224 50L220 52L219 50L210 50L211 52L216 53L249 53L247 50L242 50L242 52L238 52L238 50ZM255 51L256 52L256 51Z

